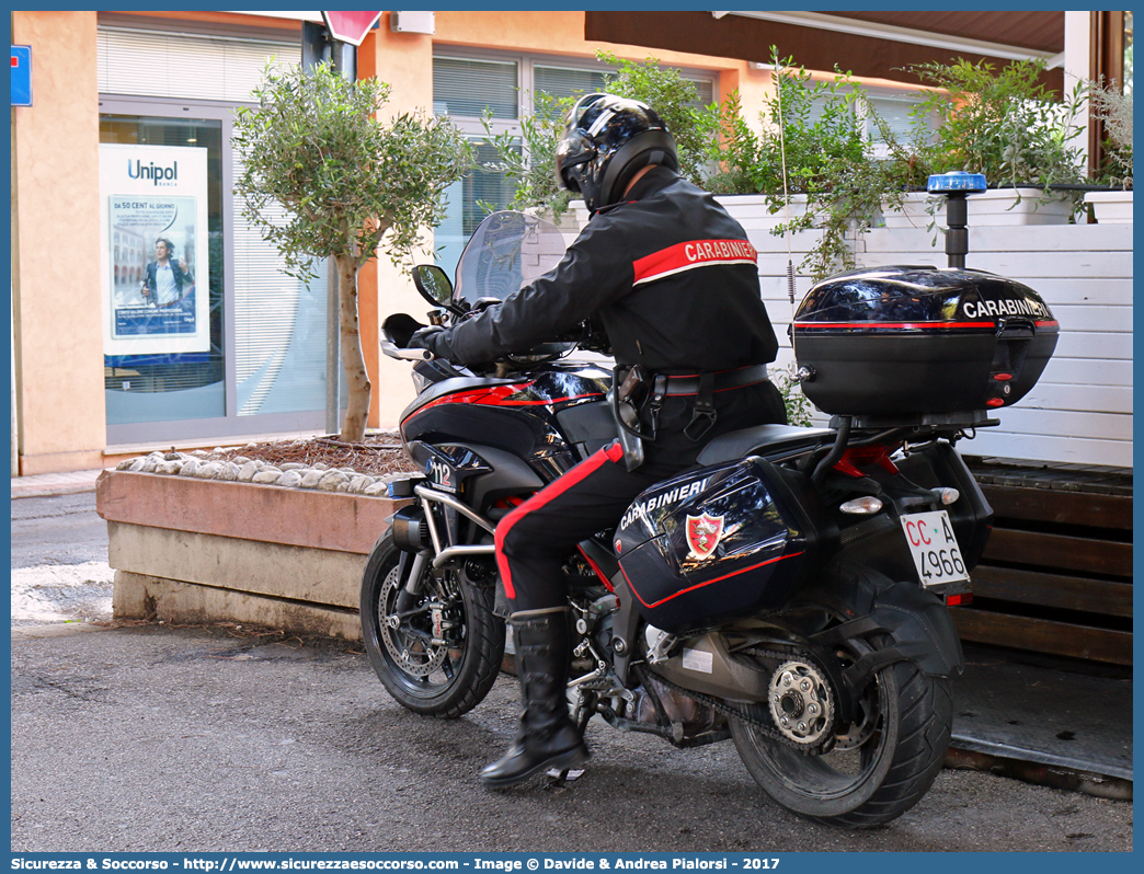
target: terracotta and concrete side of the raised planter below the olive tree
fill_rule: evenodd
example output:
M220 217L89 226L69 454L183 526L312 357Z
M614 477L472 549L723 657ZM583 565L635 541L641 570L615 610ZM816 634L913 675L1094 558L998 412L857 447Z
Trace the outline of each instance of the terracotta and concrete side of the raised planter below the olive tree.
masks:
M389 498L105 471L117 618L230 620L360 639L370 550L402 504Z

